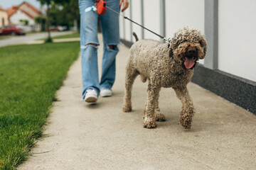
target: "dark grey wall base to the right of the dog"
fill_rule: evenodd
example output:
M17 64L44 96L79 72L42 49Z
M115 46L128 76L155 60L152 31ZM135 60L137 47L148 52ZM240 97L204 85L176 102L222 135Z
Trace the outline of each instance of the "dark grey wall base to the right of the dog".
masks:
M256 82L199 64L191 81L256 115Z

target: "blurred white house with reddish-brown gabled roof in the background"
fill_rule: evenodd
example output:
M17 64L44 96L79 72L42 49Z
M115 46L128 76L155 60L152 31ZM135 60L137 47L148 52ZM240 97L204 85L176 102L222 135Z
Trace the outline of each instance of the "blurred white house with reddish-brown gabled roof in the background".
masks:
M41 11L26 1L18 6L7 9L9 24L22 26L26 32L40 31L40 24L35 22L37 16L41 16Z

